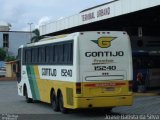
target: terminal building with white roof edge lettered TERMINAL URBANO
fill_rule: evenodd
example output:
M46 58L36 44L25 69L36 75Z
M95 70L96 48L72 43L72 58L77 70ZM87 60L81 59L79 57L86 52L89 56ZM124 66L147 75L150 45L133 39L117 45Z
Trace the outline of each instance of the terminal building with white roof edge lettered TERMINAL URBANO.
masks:
M160 88L160 0L112 0L40 26L41 36L78 31L127 31L134 81L142 72L147 88ZM136 82L135 82L136 83Z

